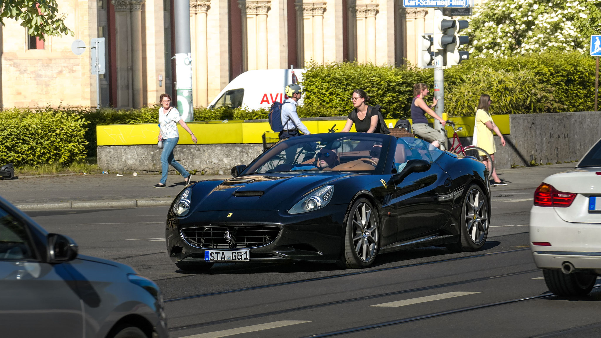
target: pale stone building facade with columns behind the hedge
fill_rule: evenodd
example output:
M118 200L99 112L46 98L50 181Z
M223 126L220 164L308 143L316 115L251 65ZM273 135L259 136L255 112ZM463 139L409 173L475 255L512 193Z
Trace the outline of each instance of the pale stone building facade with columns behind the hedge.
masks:
M90 49L106 38L102 106L140 107L174 94L174 1L190 2L195 106L246 70L308 62L416 63L415 37L433 11L402 0L58 0L74 37L38 41L14 20L0 27L1 107L96 106Z

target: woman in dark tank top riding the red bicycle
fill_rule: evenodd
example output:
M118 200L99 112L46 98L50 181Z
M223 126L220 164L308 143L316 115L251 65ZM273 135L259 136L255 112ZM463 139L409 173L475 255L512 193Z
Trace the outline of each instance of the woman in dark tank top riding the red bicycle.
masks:
M415 85L413 85L413 101L411 102L411 122L413 122L413 132L417 136L432 143L436 148L440 148L441 145L445 143L445 137L428 125L426 113L433 118L438 119L438 121L441 121L442 127L444 127L447 122L432 110L438 101L436 98L434 98L432 106L428 106L424 101L424 97L426 97L428 93L428 85L425 83L415 83Z

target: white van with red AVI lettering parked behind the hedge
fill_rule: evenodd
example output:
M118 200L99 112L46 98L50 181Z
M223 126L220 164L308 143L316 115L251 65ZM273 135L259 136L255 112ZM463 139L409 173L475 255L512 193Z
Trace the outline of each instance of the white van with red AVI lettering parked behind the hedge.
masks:
M284 102L288 98L284 94L285 86L302 81L304 73L304 68L245 71L225 86L209 108L269 108L274 101Z

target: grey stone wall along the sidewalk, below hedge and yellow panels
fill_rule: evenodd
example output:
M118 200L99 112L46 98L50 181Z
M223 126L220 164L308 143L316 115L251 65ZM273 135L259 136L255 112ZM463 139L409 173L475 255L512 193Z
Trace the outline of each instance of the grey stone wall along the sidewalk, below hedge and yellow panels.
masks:
M530 166L532 161L578 161L601 138L601 112L511 115L509 121L507 144L501 146L500 138L495 136L498 169ZM463 145L472 144L471 137L461 140ZM178 145L174 155L188 170L227 175L231 167L250 163L261 151L261 144ZM160 174L160 152L155 145L99 146L98 164L115 172Z

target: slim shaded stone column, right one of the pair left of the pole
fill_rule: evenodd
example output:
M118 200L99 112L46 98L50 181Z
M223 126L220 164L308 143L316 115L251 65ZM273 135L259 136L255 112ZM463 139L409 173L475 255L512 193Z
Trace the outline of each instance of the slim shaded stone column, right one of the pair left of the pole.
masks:
M142 107L142 5L145 0L131 0L132 22L132 105Z

